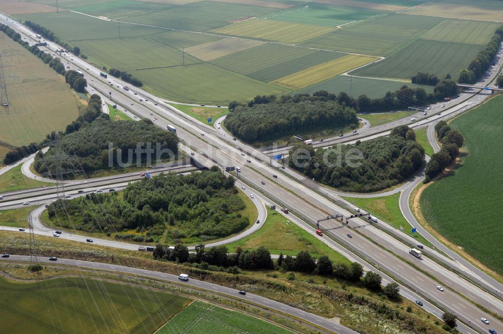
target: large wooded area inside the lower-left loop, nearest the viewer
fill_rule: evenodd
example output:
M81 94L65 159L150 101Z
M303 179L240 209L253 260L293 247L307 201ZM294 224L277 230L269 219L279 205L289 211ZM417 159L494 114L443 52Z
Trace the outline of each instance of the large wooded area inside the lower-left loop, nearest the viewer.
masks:
M99 121L97 121L99 122ZM94 122L96 123L96 122ZM129 122L132 123L132 122ZM87 232L117 233L137 242L210 240L249 224L234 179L212 169L190 175L160 175L129 184L123 193L88 194L49 206L49 218Z

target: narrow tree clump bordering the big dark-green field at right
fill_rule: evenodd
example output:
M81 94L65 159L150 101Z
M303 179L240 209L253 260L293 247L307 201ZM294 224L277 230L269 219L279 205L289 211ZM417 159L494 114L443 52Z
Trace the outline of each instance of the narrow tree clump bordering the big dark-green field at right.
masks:
M431 160L426 165L425 183L439 175L459 156L459 149L464 142L463 135L459 131L452 130L445 121L435 124L435 132L442 142L442 148L432 155Z

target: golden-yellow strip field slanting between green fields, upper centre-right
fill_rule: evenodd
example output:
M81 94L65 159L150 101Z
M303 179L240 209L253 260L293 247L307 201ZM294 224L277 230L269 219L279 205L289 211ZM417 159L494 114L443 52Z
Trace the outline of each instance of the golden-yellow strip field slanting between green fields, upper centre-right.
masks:
M299 90L378 59L372 56L350 54L279 78L274 83L293 90Z

